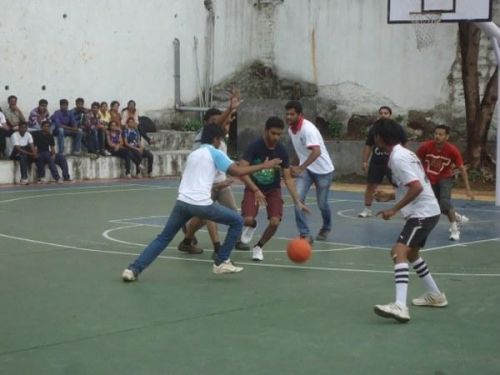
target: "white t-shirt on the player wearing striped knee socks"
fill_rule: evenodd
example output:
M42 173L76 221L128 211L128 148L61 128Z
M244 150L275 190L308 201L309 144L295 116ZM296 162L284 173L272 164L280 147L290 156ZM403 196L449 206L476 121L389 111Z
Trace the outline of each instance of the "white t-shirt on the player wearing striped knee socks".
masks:
M412 181L420 181L424 188L417 198L401 209L405 219L422 219L441 213L422 163L415 153L401 145L394 146L389 156L389 168L392 171L392 182L397 186L398 199L406 194L407 185Z

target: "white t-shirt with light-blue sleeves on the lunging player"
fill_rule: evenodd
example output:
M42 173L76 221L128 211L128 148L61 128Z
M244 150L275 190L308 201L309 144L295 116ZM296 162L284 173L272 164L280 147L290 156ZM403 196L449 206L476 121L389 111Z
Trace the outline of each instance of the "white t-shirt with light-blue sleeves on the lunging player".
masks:
M191 152L179 186L178 200L195 206L209 206L212 185L218 171L227 172L233 161L221 150L204 144Z

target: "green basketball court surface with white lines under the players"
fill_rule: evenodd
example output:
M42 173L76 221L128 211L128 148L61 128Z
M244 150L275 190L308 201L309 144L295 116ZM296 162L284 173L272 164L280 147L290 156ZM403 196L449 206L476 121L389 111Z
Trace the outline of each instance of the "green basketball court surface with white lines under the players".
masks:
M482 237L464 229L454 246L442 220L424 257L450 304L411 307L399 324L373 305L394 299L385 244L402 221L354 220L361 194L346 194L332 196L331 242L303 265L284 252L297 233L287 206L264 262L233 252L240 274L212 273L202 231L204 254L176 250L178 235L125 284L175 184L0 190L0 374L500 374L500 211L472 208L469 231ZM412 274L409 299L423 291Z

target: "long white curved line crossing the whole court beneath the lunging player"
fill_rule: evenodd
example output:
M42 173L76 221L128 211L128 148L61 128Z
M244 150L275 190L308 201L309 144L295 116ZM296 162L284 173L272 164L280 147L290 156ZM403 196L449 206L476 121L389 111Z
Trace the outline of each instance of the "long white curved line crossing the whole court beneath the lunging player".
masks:
M90 249L73 245L64 245L46 241L33 240L25 237L11 236L4 233L0 233L0 237L8 238L11 240L24 241L35 243L45 246L54 246L65 249L78 250L89 253L97 254L109 254L109 255L125 255L137 257L137 253L129 253L124 251L116 250L102 250L102 249ZM159 259L170 259L170 260L180 260L188 262L199 262L199 263L213 263L213 260L208 259L196 259L196 258L181 258L175 256L159 255ZM273 264L273 263L255 263L255 262L238 262L238 264L252 266L252 267L267 267L267 268L283 268L283 269L302 269L310 271L333 271L333 272L352 272L352 273L383 273L383 274L393 274L393 270L371 270L371 269L358 269L358 268L337 268L337 267L319 267L319 266L301 266L301 265L287 265L287 264ZM433 272L433 275L437 276L463 276L463 277L500 277L500 273L456 273L456 272Z

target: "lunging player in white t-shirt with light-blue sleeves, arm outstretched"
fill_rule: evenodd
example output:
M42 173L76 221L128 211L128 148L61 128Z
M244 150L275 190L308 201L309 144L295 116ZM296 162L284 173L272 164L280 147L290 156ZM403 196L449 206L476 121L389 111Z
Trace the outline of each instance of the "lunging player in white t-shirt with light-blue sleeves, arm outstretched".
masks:
M179 186L179 195L163 231L123 271L124 281L137 280L138 275L161 254L182 226L192 217L200 217L229 226L226 239L214 259L213 272L223 274L243 270L242 267L236 267L229 260L231 251L241 233L243 219L238 212L213 202L214 178L218 171L233 176L243 176L262 169L274 168L281 164L281 160L266 160L261 164L245 167L236 165L227 155L218 150L223 138L224 129L222 127L205 126L202 146L189 154L187 158L186 168Z

